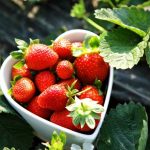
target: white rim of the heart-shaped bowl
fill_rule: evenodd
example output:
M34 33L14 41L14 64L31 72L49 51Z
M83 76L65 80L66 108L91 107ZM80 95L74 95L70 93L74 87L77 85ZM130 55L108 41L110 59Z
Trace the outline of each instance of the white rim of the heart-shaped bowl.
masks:
M87 30L82 30L82 29L74 29L74 30L69 30L69 31L66 31L64 33L62 33L60 36L58 36L56 38L56 40L58 40L58 38L60 37L63 37L64 35L67 35L68 33L76 33L76 32L82 32L82 33L90 33L90 34L93 34L93 35L96 35L95 33L91 32L91 31L87 31ZM73 136L76 136L76 137L81 137L81 138L85 138L85 139L95 139L96 136L98 135L98 132L102 126L102 123L104 121L104 118L105 118L105 114L107 112L107 108L108 108L108 104L109 104L109 100L110 100L110 95L111 95L111 91L112 91L112 85L113 85L113 75L114 75L114 70L112 67L110 67L110 71L109 71L109 77L108 77L108 88L107 88L107 92L106 92L106 96L105 96L105 102L104 102L104 112L102 113L101 115L101 119L100 119L100 122L98 124L98 126L96 127L95 131L92 133L92 134L86 134L86 133L80 133L80 132L76 132L76 131L72 131L70 129L67 129L67 128L64 128L62 126L59 126L57 124L54 124L46 119L43 119L33 113L31 113L30 111L28 111L27 109L25 109L23 106L21 106L20 104L18 104L15 100L13 100L11 98L11 96L8 94L8 89L7 89L7 85L5 83L5 80L4 80L4 70L5 70L5 67L7 66L7 64L9 64L10 62L17 62L17 60L15 60L14 58L12 58L12 56L8 56L5 61L3 62L2 66L1 66L1 69L0 69L0 77L1 77L1 84L0 84L0 87L4 93L4 96L6 97L7 101L13 106L15 106L15 110L16 108L18 108L18 110L22 111L24 114L30 116L31 118L34 118L38 121L41 121L42 123L46 124L47 126L49 127L53 127L53 128L56 128L57 130L61 130L63 132L65 132L66 134L71 134ZM13 65L13 64L12 64ZM19 113L19 112L18 112ZM29 123L28 123L29 124ZM30 125L31 126L31 125ZM34 129L33 129L34 130Z

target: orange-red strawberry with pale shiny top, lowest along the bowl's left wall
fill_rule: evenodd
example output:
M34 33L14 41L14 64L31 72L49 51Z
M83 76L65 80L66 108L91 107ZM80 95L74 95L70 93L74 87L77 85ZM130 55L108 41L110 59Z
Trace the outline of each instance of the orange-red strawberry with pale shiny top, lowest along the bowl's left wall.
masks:
M15 85L12 87L12 96L16 101L21 103L30 101L35 92L34 83L26 77L16 81Z

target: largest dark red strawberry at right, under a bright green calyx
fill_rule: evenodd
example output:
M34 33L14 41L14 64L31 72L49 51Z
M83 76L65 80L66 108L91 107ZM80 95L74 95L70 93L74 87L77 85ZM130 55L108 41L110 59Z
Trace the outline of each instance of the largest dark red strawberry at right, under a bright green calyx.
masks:
M74 67L83 84L93 84L96 79L104 81L109 66L98 53L84 54L76 58Z

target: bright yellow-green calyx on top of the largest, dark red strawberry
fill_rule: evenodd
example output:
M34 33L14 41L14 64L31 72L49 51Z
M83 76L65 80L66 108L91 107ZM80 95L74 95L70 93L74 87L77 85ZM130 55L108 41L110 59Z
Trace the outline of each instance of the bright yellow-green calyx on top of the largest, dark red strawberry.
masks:
M81 47L72 47L72 54L74 57L79 57L84 54L99 53L99 37L89 36L85 37Z

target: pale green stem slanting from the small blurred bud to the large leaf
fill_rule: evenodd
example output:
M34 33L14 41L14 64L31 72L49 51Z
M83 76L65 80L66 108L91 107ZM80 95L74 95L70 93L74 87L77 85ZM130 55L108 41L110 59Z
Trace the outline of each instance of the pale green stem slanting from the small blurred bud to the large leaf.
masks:
M92 25L93 27L95 27L96 29L98 29L101 33L107 31L103 27L101 27L100 25L98 25L97 23L95 23L93 20L89 19L88 17L84 16L83 19L86 22L88 22L90 25Z

